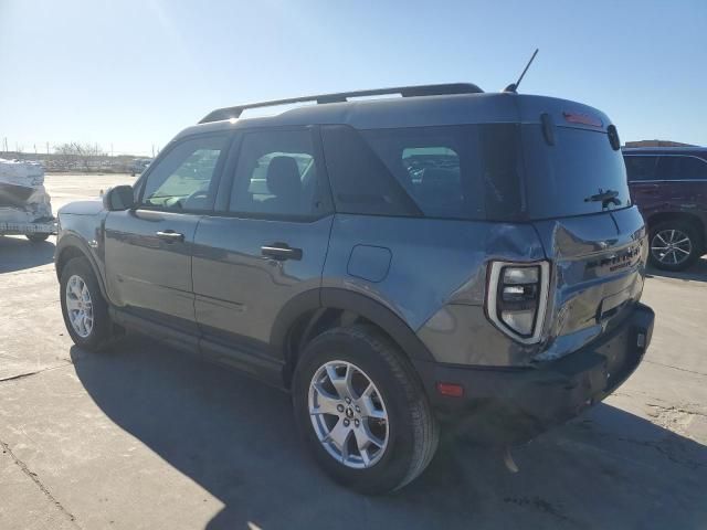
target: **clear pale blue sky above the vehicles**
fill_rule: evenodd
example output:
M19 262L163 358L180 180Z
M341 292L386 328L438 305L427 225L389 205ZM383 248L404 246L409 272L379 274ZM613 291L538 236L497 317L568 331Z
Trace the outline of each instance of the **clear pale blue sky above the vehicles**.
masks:
M707 145L707 1L0 0L0 142L149 153L210 109L469 81Z

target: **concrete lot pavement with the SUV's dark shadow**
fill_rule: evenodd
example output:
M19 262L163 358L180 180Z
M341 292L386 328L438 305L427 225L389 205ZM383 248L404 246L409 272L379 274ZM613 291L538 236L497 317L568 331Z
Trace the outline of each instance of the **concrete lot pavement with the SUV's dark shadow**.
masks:
M48 177L53 204L130 177ZM499 454L444 439L367 498L327 480L286 394L146 339L64 330L53 239L0 239L0 528L707 528L707 259L653 272L653 343L587 415Z

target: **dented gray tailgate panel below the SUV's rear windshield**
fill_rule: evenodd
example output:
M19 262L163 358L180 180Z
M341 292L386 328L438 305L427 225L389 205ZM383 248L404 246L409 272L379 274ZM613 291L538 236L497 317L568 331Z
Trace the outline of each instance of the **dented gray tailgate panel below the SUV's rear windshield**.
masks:
M548 348L537 360L570 353L612 329L641 298L647 244L633 206L534 223L552 262Z

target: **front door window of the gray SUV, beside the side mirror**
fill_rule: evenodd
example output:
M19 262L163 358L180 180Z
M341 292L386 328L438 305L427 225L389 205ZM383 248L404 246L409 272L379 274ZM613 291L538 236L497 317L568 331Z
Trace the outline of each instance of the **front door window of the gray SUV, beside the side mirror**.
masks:
M217 163L228 140L228 136L208 136L178 144L147 176L143 205L175 211L209 210L215 193Z

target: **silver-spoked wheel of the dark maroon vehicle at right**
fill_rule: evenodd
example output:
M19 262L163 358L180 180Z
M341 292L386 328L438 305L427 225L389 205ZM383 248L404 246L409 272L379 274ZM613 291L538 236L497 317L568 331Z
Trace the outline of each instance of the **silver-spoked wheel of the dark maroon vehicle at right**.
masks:
M701 234L690 223L665 221L650 230L648 263L663 271L684 271L701 255Z

